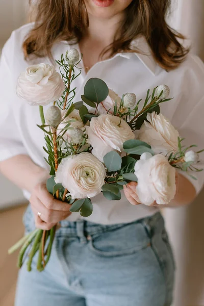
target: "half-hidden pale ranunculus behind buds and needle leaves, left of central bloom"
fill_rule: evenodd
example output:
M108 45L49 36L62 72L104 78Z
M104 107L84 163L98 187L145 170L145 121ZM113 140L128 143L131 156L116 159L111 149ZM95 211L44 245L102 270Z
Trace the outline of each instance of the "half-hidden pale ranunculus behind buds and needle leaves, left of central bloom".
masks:
M66 116L67 110L62 111L62 119ZM68 127L68 130L64 134L63 138L67 140L68 142L71 141L71 131L73 129L82 129L84 127L84 123L82 121L82 118L80 117L79 110L73 110L66 118L62 120L60 125L58 126L58 131L60 132L64 127L70 123L70 126Z

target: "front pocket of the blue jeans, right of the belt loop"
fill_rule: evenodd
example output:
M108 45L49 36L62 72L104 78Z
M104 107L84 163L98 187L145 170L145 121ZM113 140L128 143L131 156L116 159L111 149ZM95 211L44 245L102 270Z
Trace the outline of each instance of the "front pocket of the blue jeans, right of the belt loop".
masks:
M142 224L124 225L117 230L90 236L89 247L97 256L131 255L150 245Z

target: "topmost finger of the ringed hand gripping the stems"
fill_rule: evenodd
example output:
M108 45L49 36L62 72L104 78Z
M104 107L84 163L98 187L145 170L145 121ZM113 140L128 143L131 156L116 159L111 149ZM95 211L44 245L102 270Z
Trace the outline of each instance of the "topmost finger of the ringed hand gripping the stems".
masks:
M66 202L56 200L54 196L47 191L46 185L40 184L36 188L36 195L46 208L58 211L70 210L71 205Z

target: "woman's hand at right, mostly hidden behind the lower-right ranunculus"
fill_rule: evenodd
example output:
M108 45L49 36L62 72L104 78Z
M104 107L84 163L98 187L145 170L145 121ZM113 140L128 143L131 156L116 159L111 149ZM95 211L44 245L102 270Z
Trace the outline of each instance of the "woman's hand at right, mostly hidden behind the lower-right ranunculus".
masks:
M176 175L175 175L175 182L176 182L176 191L178 190L178 185L179 185L179 175L176 171ZM126 199L132 204L132 205L140 205L140 200L138 198L137 192L136 192L136 187L137 187L137 183L136 182L131 182L127 185L125 185L123 187L124 190L124 194L126 196ZM150 206L154 206L154 207L160 207L161 205L157 204L156 201L154 201ZM170 206L169 204L167 205L162 205L162 207L165 206Z

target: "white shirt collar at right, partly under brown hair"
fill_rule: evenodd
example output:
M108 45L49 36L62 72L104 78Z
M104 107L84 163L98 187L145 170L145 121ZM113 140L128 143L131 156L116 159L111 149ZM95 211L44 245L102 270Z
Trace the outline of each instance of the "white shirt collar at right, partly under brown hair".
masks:
M140 36L131 43L131 48L137 48L141 53L134 53L139 60L144 64L144 66L154 75L156 75L158 64L154 60L151 49L145 39L145 37ZM121 53L122 57L130 59L133 53Z

